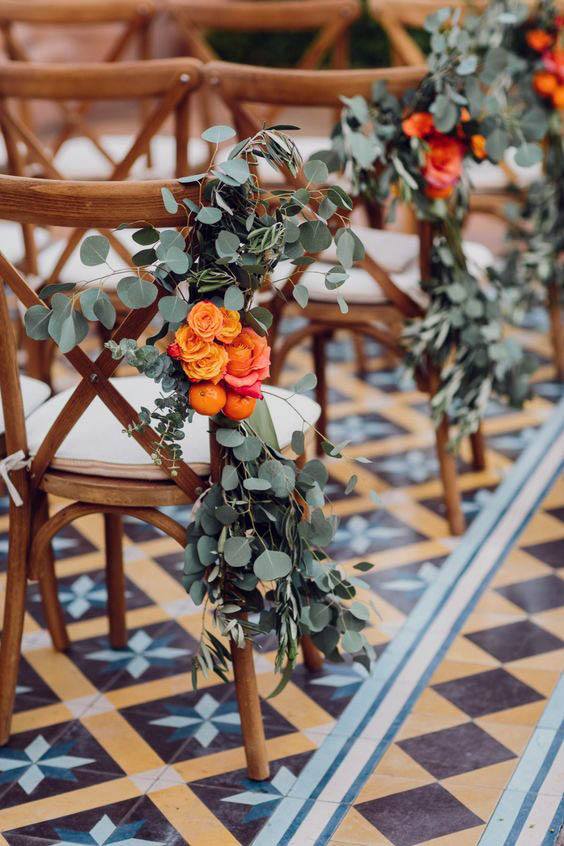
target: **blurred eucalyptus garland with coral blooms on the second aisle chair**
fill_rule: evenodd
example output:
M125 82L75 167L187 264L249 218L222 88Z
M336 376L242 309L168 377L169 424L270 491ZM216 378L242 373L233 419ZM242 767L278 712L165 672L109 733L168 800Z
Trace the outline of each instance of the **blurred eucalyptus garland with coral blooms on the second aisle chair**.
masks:
M533 361L504 337L498 290L478 277L462 242L469 206L465 167L498 162L515 135L503 129L500 139L507 98L494 71L501 48L492 38L481 49L474 19L466 29L458 12L431 15L426 29L429 73L417 90L400 101L379 83L371 102L343 98L332 153L353 193L368 203L389 204L390 216L398 202L407 203L432 226L431 274L421 280L430 304L404 332L406 362L419 375L429 364L439 370L432 415L438 423L448 413L458 427L456 444L477 429L492 393L516 406L523 403ZM521 162L536 160L522 130L519 141Z

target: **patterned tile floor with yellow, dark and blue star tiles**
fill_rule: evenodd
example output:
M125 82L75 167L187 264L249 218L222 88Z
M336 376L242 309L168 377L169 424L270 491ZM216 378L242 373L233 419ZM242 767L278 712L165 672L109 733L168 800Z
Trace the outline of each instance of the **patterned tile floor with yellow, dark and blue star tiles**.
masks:
M474 472L462 450L469 524L478 524L495 502L518 456L534 448L559 398L544 335L534 328L520 334L541 357L535 396L521 412L492 404L486 471ZM367 576L374 607L370 636L378 653L387 654L415 626L451 566L457 541L444 520L425 398L411 385L400 386L376 347L371 353L371 372L362 383L346 339L331 350L330 383L338 386L331 434L340 439L346 433L349 456L371 460L330 465L341 521L332 552L346 568L364 558L374 563ZM308 367L306 352L297 351L285 379L294 381ZM344 498L353 469L358 487ZM382 509L374 508L371 490L381 495ZM187 517L184 511L180 516ZM81 520L55 540L72 639L68 654L52 651L38 592L29 591L14 734L0 750L0 844L555 843L560 788L554 780L529 791L535 802L524 839L495 839L494 833L487 840L498 802L518 792L506 788L527 763L531 737L552 730L538 724L563 663L564 481L556 481L521 523L522 535L483 585L432 675L405 715L390 721L377 763L354 785L351 780L346 798L315 801L319 792L302 793L300 785L311 780L332 743L341 742L345 762L354 764L356 747L345 729L340 735L341 726L372 680L348 664L327 665L316 675L299 667L280 696L263 701L271 779L249 781L232 686L210 679L197 692L190 687L200 614L180 584L174 543L153 528L127 523L129 640L126 648L112 650L101 521ZM4 501L4 564L7 530ZM269 644L257 653L265 696L274 686L272 657ZM377 665L379 673L383 677ZM275 824L277 809L288 808L286 822L292 818L292 802L301 807L301 833L283 834L282 826L280 835L269 834L265 824ZM324 834L313 824L308 828L319 813L330 820Z

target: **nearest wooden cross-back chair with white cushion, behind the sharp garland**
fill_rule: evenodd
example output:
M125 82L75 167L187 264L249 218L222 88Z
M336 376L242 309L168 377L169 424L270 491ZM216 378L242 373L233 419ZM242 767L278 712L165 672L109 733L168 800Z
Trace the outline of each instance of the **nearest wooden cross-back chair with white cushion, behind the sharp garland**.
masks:
M161 188L166 185L178 198L197 199L197 187L184 189L162 182L61 182L0 176L0 218L20 223L109 229L123 221L143 220L156 227L184 227L179 211L167 214ZM132 225L135 225L132 223ZM25 306L40 300L14 266L0 254L0 277ZM138 338L157 311L157 301L146 309L129 312L113 338ZM24 420L17 351L10 328L4 287L0 286L0 325L3 337L0 356L0 392L5 420L5 450L9 456L22 451L24 462L16 465L11 482L23 504L10 503L10 549L6 584L4 630L0 647L0 743L9 737L10 716L17 679L28 579L39 580L45 616L55 648L68 646L58 602L52 537L86 514L104 514L106 574L110 641L125 643L125 600L122 558L122 517L144 520L179 542L186 542L186 527L159 510L161 506L194 502L210 474L217 479L222 455L208 435L206 418L196 415L187 426L185 460L175 474L166 462L156 467L150 455L158 436L149 428L135 431L133 440L123 429L138 421L138 409L151 407L159 388L146 377L111 378L118 362L109 350L91 361L76 347L66 354L76 370L76 388L42 403ZM314 424L318 406L306 397L297 398L296 411L285 399L289 391L270 389L268 403L283 449L289 448L292 431L301 428L302 416ZM285 399L282 399L285 398ZM294 402L294 401L293 401ZM97 437L93 438L92 433ZM69 504L49 517L47 496L53 494ZM235 684L241 708L243 739L251 778L266 778L268 763L260 705L252 661L252 645L232 646ZM312 644L304 651L306 661L318 666Z

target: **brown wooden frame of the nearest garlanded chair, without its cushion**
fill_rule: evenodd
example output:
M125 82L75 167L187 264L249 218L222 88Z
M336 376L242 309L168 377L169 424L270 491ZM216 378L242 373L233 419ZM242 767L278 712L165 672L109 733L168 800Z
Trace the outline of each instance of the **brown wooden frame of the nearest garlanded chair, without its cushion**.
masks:
M46 224L85 228L112 228L129 221L135 226L142 220L156 227L186 227L186 215L166 213L161 189L169 188L181 201L197 200L198 187L182 187L174 182L68 182L0 176L0 219L20 223ZM20 272L0 253L0 278L26 307L40 299ZM159 290L159 295L162 292ZM114 330L113 338L138 338L154 317L155 303L145 309L130 311ZM0 325L6 342L0 356L0 393L5 418L5 449L8 455L23 450L28 455L25 418L18 375L15 338L10 331L10 318L4 285L0 285ZM172 471L163 464L169 478L163 481L104 479L99 476L54 470L50 467L57 449L98 397L119 420L123 428L136 424L138 412L109 381L119 366L108 349L91 361L75 347L65 354L78 372L80 381L71 397L46 433L29 472L15 470L12 481L23 499L18 507L10 501L9 560L6 584L6 607L0 644L0 744L9 739L11 713L17 680L21 638L25 614L27 580L38 580L45 616L56 649L69 645L56 588L54 558L50 542L63 527L86 514L103 513L106 539L106 575L110 642L114 647L125 643L124 569L122 555L122 517L130 515L157 526L182 546L186 543L186 527L158 509L163 505L194 502L205 488L205 481L185 462ZM156 434L150 427L133 429L133 437L150 455ZM223 453L210 431L211 476L221 473ZM70 500L54 516L49 517L49 494ZM253 647L232 644L235 685L241 709L243 742L250 778L268 777L268 759L260 715ZM307 643L304 660L313 669L319 667L319 653Z

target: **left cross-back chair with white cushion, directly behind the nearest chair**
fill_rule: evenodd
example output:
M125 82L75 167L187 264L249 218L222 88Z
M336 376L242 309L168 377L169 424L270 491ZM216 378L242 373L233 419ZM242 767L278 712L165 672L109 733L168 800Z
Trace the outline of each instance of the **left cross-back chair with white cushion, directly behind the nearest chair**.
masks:
M26 124L19 112L21 103L73 102L82 103L140 103L149 109L141 115L138 126L129 136L121 137L121 147L112 146L113 136L100 134L93 125L85 129L85 118L77 125L79 137L90 145L107 167L108 180L123 180L143 173L142 159L151 141L161 139L168 149L168 173L180 176L188 172L188 135L190 97L201 80L200 63L193 59L155 59L146 62L99 63L84 65L36 64L9 62L0 66L0 128L3 133L10 173L16 176L32 173L50 179L64 179L73 175L76 149L66 154L66 144L58 148L58 137L40 136ZM167 122L173 121L171 135L160 134ZM88 134L85 135L84 133ZM51 140L51 143L50 143ZM72 140L72 139L68 139ZM66 165L71 164L71 173ZM88 161L88 158L87 160ZM73 168L74 165L74 168ZM164 163L163 163L164 167ZM80 168L79 168L80 170ZM13 224L12 224L13 225ZM85 271L80 263L79 242L83 232L74 229L37 250L34 228L23 226L26 246L25 269L35 278L35 287L42 283L67 282ZM61 233L58 233L59 235ZM131 250L138 249L127 232L104 232L111 243L110 264L116 269L131 264ZM95 278L97 270L90 274ZM123 307L115 299L116 308ZM25 340L25 339L24 339ZM29 344L28 372L49 380L52 344Z

